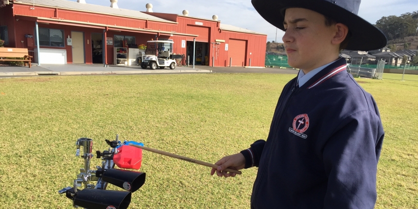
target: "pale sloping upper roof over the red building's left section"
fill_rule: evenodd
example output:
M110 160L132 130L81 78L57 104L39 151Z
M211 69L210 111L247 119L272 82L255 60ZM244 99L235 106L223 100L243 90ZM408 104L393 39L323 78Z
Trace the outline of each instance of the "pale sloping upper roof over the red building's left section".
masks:
M88 3L78 3L76 1L69 1L69 0L35 0L35 3L34 3L34 0L14 0L14 3L24 3L24 4L30 4L30 5L35 4L35 6L48 6L48 7L63 8L63 9L68 9L68 10L108 14L108 15L119 16L119 17L121 16L133 17L133 18L148 19L148 20L160 21L160 22L176 23L173 21L169 21L169 20L159 18L159 17L154 17L152 15L148 15L143 12L139 12L135 10L118 9L118 8L112 8L110 6L101 6L101 5L88 4Z

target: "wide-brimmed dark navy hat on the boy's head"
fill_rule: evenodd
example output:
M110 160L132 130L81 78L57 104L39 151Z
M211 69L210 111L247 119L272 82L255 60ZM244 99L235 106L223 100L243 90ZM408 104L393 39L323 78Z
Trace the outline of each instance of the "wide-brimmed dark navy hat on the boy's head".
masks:
M347 25L351 35L347 50L370 51L382 49L386 36L375 26L359 17L361 0L251 0L257 12L270 24L284 31L287 8L304 8Z

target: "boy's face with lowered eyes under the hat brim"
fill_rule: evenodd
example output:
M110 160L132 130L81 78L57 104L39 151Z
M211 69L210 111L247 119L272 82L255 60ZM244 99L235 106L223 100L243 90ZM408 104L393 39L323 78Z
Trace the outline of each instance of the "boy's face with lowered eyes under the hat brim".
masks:
M288 64L305 73L338 58L338 47L331 44L334 27L325 25L325 17L302 8L288 8L284 16L286 32L282 38Z

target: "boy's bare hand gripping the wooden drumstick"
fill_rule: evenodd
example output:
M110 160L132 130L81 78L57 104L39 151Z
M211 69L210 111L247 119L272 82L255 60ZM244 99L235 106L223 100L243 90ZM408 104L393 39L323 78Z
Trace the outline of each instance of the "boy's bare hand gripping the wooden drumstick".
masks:
M231 168L235 170L241 170L245 167L245 158L243 154L237 153L235 155L222 157L218 162L215 163L215 165L219 165L217 169L212 168L212 171L210 171L210 174L213 175L216 172L216 175L219 177L234 177L235 173L228 173L224 171L226 168Z

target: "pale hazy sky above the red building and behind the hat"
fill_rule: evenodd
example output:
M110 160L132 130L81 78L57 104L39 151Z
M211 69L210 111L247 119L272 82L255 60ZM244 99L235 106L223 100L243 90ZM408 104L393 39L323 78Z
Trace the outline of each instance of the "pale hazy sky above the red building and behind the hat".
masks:
M86 0L86 3L110 6L109 0ZM182 14L188 10L189 16L208 19L217 15L221 23L267 34L267 41L282 42L284 35L257 13L251 0L118 0L119 8L143 12L147 3L153 4L153 11L158 13ZM418 11L418 0L363 0L358 15L375 24L382 17L414 11Z

